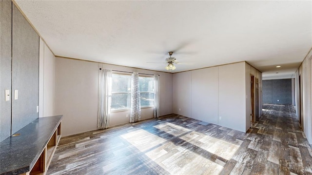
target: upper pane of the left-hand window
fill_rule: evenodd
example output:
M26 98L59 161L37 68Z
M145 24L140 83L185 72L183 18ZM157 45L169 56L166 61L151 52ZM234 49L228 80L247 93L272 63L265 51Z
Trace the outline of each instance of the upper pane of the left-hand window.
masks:
M112 74L112 92L130 92L130 79L129 75Z

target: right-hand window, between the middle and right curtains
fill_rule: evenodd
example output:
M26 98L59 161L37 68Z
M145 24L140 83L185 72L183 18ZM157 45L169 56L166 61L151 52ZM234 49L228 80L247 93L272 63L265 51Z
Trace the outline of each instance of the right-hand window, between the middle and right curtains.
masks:
M154 78L139 77L141 107L154 106Z

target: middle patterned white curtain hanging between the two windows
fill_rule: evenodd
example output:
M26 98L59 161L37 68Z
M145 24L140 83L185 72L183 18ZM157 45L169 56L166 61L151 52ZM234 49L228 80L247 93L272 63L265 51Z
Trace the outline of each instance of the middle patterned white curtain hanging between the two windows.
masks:
M131 82L130 123L134 123L141 119L140 89L137 72L132 74Z

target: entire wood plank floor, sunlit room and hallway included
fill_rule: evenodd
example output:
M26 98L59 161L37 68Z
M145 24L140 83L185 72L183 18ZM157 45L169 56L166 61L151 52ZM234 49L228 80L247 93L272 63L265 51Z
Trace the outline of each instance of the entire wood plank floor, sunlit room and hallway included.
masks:
M63 137L47 175L312 175L293 107L263 108L247 133L169 115Z

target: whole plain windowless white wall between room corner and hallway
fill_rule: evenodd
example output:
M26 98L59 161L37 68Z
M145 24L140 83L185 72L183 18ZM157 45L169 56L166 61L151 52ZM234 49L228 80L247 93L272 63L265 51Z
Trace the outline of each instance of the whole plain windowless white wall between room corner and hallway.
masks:
M246 71L248 64L245 64L239 62L174 74L174 113L247 131L250 93L246 99L246 90L250 91L251 68Z

